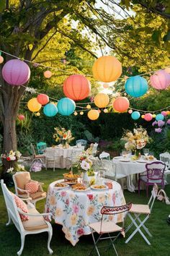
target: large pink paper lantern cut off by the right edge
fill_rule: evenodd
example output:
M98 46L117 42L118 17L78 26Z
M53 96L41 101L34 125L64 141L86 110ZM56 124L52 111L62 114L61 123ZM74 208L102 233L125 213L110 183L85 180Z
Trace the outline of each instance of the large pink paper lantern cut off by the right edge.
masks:
M157 90L165 90L170 85L170 74L164 69L156 71L150 77L151 86Z

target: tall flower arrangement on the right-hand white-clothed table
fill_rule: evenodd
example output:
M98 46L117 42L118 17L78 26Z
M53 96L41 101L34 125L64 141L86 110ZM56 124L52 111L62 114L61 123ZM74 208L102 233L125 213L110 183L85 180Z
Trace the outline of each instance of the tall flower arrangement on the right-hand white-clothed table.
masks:
M126 150L140 150L150 142L150 137L146 129L143 127L133 129L133 132L127 130L125 135L123 135L121 140L125 140L125 149Z

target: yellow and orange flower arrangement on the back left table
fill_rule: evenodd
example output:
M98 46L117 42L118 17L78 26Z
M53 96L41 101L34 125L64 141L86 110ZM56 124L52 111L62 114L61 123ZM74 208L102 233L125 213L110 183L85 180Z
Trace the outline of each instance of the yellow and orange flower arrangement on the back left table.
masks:
M55 139L55 142L60 142L63 148L69 148L69 142L74 139L71 130L68 129L68 131L66 131L65 128L58 127L55 127L54 129L55 133L53 134L53 138Z

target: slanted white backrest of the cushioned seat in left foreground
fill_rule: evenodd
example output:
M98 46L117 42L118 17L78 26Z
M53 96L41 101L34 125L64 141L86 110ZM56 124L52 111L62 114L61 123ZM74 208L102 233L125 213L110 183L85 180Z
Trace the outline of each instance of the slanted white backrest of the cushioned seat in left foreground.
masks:
M6 209L7 209L9 218L12 219L14 225L16 226L16 228L18 229L19 232L24 231L24 228L22 226L22 221L19 216L19 212L17 210L17 205L14 200L14 196L9 191L9 189L7 189L6 184L4 184L3 179L1 179L1 188L2 188L2 192L4 194L4 200L5 200Z

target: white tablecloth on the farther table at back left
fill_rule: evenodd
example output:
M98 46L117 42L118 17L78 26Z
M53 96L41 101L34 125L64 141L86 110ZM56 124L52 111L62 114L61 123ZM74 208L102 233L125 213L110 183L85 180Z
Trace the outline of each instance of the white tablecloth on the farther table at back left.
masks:
M71 153L73 151L79 151L81 153L84 150L84 146L77 148L76 146L69 146L69 148L50 147L47 150L55 150L55 167L56 168L70 168L71 167ZM47 168L53 168L53 161L47 161Z

